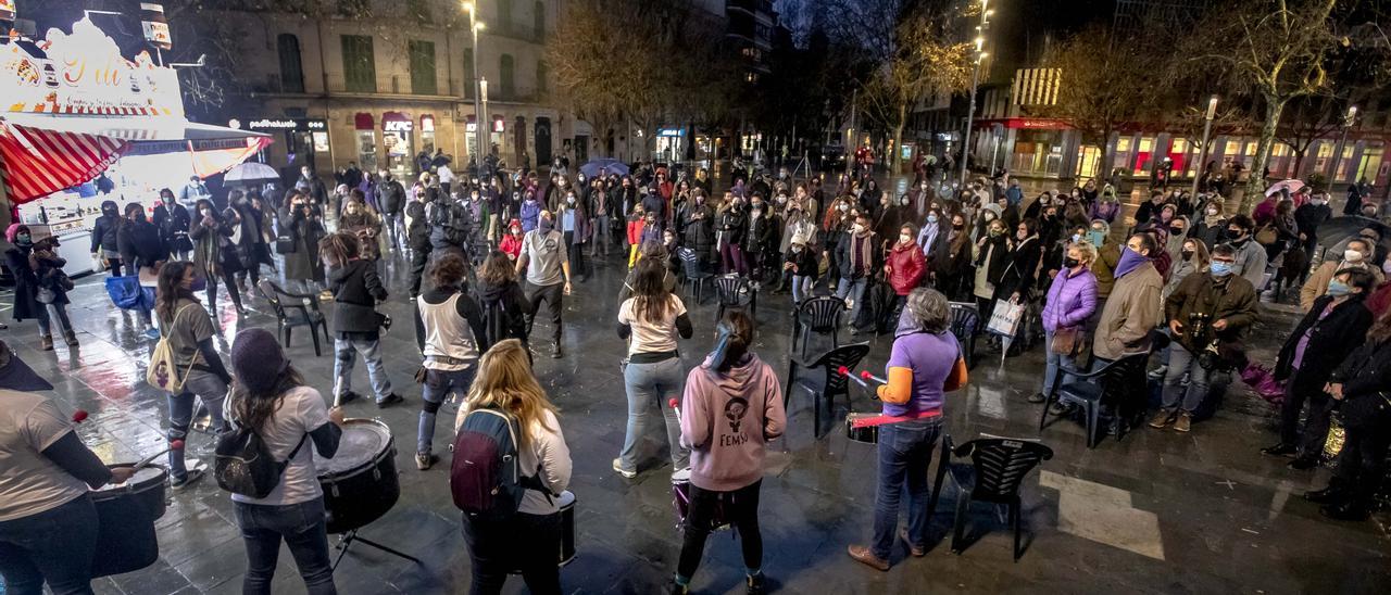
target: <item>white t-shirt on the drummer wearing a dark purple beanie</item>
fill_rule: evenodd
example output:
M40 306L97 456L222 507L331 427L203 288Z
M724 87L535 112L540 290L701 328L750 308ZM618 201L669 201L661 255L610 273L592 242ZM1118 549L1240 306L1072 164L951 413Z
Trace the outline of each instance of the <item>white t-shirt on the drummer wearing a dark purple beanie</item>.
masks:
M324 398L319 395L319 391L309 386L292 388L284 399L275 414L266 423L266 428L260 434L262 439L266 441L266 446L275 460L285 460L289 452L299 445L300 438L305 439L305 443L299 446L299 452L285 467L285 474L280 477L280 484L270 495L250 498L232 494L234 502L267 506L298 505L324 494L319 488L319 470L314 467L314 456L310 450L314 448L314 439L307 434L330 423L328 406L324 405ZM232 418L232 399L227 399L227 418Z

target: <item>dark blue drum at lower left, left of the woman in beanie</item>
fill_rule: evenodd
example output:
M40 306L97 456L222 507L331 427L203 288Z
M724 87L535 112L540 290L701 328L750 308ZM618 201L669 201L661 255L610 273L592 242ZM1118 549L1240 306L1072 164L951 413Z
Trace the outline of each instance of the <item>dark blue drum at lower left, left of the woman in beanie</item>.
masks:
M135 463L107 467L131 467ZM99 521L97 555L92 559L92 577L140 570L160 559L154 520L164 516L164 481L168 470L147 464L129 481L103 485L92 492Z

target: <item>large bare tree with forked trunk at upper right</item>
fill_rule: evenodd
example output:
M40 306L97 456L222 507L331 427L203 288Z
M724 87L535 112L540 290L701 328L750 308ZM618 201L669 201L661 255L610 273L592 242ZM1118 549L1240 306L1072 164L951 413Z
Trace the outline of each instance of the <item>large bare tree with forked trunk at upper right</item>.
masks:
M1180 43L1181 81L1212 76L1249 93L1260 104L1260 135L1256 154L1246 170L1241 211L1249 213L1262 196L1260 175L1276 143L1280 120L1291 101L1320 95L1328 86L1330 61L1348 42L1340 31L1337 0L1234 0L1210 11L1203 22ZM1199 63L1217 68L1196 68Z

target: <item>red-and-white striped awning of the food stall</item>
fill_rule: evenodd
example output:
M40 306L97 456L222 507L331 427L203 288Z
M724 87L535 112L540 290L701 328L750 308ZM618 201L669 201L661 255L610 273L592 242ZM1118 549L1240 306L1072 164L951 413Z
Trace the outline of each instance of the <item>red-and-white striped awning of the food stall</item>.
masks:
M124 154L188 152L209 177L270 145L260 132L182 118L0 115L0 177L19 204L96 178Z

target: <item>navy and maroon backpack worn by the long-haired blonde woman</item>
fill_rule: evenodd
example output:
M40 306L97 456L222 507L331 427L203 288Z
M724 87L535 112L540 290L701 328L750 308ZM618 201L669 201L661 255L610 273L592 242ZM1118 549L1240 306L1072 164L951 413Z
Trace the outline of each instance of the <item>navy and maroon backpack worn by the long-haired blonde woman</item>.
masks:
M522 474L517 435L516 417L501 409L476 409L465 416L449 464L449 492L459 510L502 520L516 514L527 489L549 496L541 480Z

